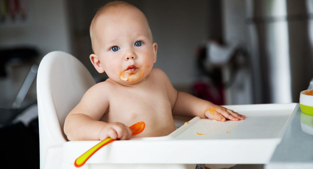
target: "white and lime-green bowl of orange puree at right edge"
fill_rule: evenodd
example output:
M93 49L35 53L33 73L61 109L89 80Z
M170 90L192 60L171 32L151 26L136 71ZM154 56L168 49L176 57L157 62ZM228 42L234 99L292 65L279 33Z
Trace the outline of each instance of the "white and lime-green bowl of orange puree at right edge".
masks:
M305 114L313 116L313 96L304 94L305 91L310 92L310 90L304 90L300 93L300 108Z

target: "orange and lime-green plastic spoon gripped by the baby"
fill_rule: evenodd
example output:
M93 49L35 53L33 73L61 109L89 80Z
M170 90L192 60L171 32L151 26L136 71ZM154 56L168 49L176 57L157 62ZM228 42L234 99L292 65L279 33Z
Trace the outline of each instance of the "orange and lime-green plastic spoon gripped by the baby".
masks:
M146 124L144 122L138 122L134 125L132 125L131 127L131 131L133 132L132 136L135 136L139 133L141 133L146 127ZM103 146L114 142L116 139L112 139L110 137L102 140L100 143L98 143L97 145L95 145L94 147L90 148L90 150L88 150L87 152L85 152L83 155L81 155L80 157L78 157L75 162L74 165L75 167L81 167L85 164L85 162L93 155L95 154L95 152L97 152L100 148L102 148Z

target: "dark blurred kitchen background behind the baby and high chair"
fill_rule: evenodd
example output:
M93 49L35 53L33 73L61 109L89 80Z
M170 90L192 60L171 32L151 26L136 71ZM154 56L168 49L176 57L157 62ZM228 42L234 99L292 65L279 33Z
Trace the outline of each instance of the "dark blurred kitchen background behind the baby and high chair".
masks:
M107 2L111 1L0 0L0 107L18 110L8 118L13 123L0 125L3 136L12 141L32 135L28 141L37 146L33 65L47 53L68 52L96 82L108 78L89 60L90 23ZM219 105L299 102L313 77L312 0L126 2L146 15L158 44L154 66L178 91ZM14 107L18 101L21 104Z

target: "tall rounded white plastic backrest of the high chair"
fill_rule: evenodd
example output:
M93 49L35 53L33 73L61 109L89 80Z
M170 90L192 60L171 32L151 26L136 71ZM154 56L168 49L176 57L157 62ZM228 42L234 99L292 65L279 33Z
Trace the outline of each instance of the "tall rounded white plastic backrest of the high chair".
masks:
M68 53L50 52L40 62L37 74L40 168L48 147L68 141L63 131L65 118L93 85L95 81L87 68Z

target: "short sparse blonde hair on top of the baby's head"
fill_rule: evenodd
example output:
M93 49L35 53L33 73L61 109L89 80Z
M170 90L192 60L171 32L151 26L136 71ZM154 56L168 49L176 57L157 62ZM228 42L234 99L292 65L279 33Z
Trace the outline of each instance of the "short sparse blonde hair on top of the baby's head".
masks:
M129 7L129 8L137 10L139 13L141 13L144 16L144 18L146 19L146 22L148 24L148 20L147 20L145 14L143 12L141 12L141 10L138 9L137 7L135 7L134 5L131 5L130 3L122 2L122 1L109 2L97 11L97 13L95 14L95 17L92 19L91 24L90 24L90 30L89 31L90 31L91 45L92 45L93 51L94 51L94 32L93 32L93 30L94 30L94 26L95 26L95 23L96 23L98 17L101 15L105 15L108 12L119 12L119 11L123 10L125 7ZM151 40L153 42L153 37L152 37L152 33L150 30L149 24L148 24L148 29L149 29L148 30L149 35L151 36Z

